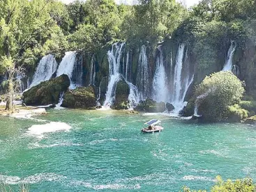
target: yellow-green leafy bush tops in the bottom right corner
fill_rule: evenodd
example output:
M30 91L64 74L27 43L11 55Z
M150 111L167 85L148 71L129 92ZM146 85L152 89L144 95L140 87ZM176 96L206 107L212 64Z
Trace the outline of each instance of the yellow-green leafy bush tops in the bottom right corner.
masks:
M226 182L218 176L216 177L216 184L211 188L211 192L255 192L256 186L253 184L253 179L236 179L233 182L231 179L227 179ZM197 192L191 191L188 187L183 188L183 192ZM199 190L198 192L206 192L205 190Z

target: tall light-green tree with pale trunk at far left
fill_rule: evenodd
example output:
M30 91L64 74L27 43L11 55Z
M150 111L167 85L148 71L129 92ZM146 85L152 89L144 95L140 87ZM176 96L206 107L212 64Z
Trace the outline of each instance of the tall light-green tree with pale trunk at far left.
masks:
M8 76L6 110L13 110L13 81L24 73L24 65L56 48L61 30L57 25L63 4L47 0L3 0L0 2L0 72Z

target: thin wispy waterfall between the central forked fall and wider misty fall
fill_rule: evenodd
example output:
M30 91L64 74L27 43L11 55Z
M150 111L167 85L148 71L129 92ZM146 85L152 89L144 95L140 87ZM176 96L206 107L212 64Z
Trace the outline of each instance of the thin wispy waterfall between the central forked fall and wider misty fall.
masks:
M140 91L140 99L146 99L149 96L149 62L146 57L146 46L142 45L139 56L139 65L137 70L137 88Z

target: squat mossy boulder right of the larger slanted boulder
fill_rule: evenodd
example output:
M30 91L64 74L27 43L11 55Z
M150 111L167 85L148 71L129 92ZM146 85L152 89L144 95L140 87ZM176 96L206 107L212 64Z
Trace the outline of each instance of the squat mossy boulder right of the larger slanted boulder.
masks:
M93 87L68 90L63 96L61 106L73 109L95 109L96 97Z

